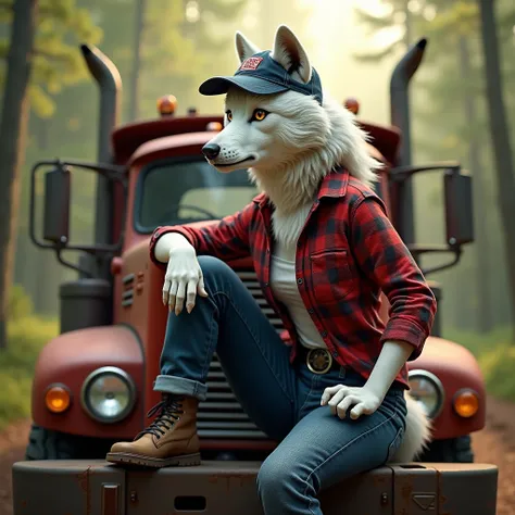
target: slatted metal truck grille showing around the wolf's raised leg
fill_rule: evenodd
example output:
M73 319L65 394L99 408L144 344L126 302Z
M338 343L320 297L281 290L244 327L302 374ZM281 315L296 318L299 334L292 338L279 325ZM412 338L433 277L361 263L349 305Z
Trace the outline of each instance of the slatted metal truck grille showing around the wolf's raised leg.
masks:
M237 272L239 278L260 304L276 330L282 330L282 322L268 305L255 272ZM247 416L237 401L215 354L208 373L208 398L199 404L199 437L204 439L266 440L267 436Z

